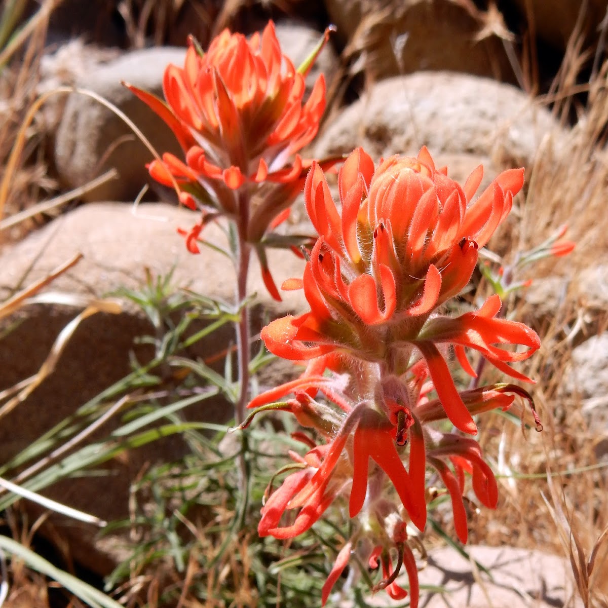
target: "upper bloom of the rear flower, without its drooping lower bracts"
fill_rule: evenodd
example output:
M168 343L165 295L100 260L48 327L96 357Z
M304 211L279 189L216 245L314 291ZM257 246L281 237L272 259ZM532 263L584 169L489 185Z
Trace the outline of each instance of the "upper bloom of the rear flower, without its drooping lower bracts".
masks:
M186 155L184 164L164 154L150 173L169 186L173 178L219 179L233 190L246 180L293 181L302 160L289 168L286 161L311 142L325 110L323 75L306 103L304 77L282 54L272 21L250 40L224 30L206 53L190 41L184 67L165 71L168 106L129 87L167 122Z

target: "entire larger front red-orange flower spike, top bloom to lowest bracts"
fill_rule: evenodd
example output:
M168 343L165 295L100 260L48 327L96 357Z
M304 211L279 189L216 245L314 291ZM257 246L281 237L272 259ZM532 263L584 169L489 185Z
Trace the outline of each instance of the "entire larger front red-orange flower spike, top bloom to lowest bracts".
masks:
M527 396L513 385L458 391L446 361L449 348L471 375L468 349L529 381L508 363L528 358L540 345L530 328L498 316L497 296L458 317L437 313L466 286L478 247L508 215L523 184L523 170L505 171L473 200L482 174L478 168L461 187L435 168L426 148L416 158L391 157L376 169L358 149L339 172L340 210L318 165L313 163L306 179L306 208L319 238L302 280L291 279L283 288L303 288L311 310L272 322L261 336L272 353L309 364L299 379L259 395L249 407L288 410L324 440L312 444L305 457L294 454L297 471L264 505L260 534L296 536L342 494L350 496L350 516L367 522L351 537L348 551L340 552L324 601L347 553L357 550L363 528L385 527L386 478L399 497L389 511L399 517L404 512L423 529L426 466L435 468L452 498L463 542L465 473L472 475L478 500L496 506L496 480L478 443L429 426L449 418L457 429L475 434L472 415L506 409L514 394ZM525 350L511 350L513 345ZM429 398L432 391L437 398ZM316 400L318 392L325 402ZM277 402L289 393L294 398ZM281 525L291 510L295 519ZM376 562L382 556L381 586L402 597L393 585L405 563L415 606L416 569L407 542L395 541L385 530L375 546L367 558ZM395 550L393 570L390 551Z

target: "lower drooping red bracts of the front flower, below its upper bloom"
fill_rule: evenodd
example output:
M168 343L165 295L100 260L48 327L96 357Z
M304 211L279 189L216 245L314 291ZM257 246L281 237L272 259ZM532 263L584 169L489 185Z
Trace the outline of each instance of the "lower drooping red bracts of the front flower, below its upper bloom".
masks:
M344 367L340 371L344 371ZM346 566L351 551L367 561L371 535L384 572L384 578L374 589L386 587L393 597L404 597L406 592L396 585L394 578L401 564L405 564L410 579L410 599L415 606L417 576L412 548L405 541L393 542L390 522L395 517L399 520L405 517L419 530L424 529L427 463L438 472L451 497L454 526L462 542L466 542L468 536L463 502L465 473L472 475L475 495L489 508L496 506L497 485L477 441L429 427L429 423L446 416L439 400L429 398L435 387L429 381L424 363L416 364L415 369L410 370L412 373L399 381L387 378L381 382L378 371L377 364L357 362L351 368L348 385L344 384L344 373L309 375L261 393L250 403L257 412L280 409L294 413L303 426L314 429L322 437L321 441L325 441L319 445L305 441L311 449L303 457L290 452L294 464L282 470L290 474L264 504L258 533L278 539L298 536L309 530L331 503L341 496L349 497L349 515L356 518L353 520L356 523L345 545L348 549L340 551L323 587L323 602ZM356 378L373 376L378 381L371 385L384 396L378 394L366 399L361 390L368 383L358 382ZM399 387L409 390L410 407L392 399ZM326 398L325 403L318 402L309 394L315 390L331 397ZM291 392L295 398L270 403ZM481 413L508 409L516 394L527 397L519 387L499 384L463 391L461 398L471 413ZM407 468L404 461L409 463ZM385 490L387 478L396 489L396 502ZM288 513L294 516L282 523ZM387 519L387 513L393 514L392 519ZM394 550L398 551L399 559L392 570L390 554Z

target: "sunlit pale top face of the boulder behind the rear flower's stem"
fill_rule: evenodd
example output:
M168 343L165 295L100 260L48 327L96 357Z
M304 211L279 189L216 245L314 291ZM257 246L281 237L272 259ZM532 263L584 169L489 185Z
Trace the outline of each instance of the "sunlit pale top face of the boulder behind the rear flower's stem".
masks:
M168 204L147 203L135 208L125 203L95 203L78 207L21 243L0 252L0 297L8 295L23 278L25 285L45 277L52 269L81 253L84 259L53 284L54 291L105 295L119 286L137 288L144 268L165 275L174 269L173 283L209 297L232 302L235 275L230 261L209 247L190 254L178 228L190 229L199 214ZM203 234L211 243L226 246L223 230L215 224ZM277 285L302 274L303 261L281 250L268 252ZM249 292L274 306L263 286L260 268L252 260ZM302 308L302 292L285 292L277 312Z

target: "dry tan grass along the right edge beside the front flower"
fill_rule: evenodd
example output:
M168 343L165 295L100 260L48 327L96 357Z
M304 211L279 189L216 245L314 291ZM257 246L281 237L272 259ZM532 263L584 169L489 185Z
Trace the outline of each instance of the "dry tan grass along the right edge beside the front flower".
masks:
M480 511L471 534L472 542L563 554L585 606L608 606L608 463L598 466L595 451L602 430L589 426L581 400L565 393L563 380L573 346L590 337L584 330L608 328L608 311L590 313L578 282L587 269L608 259L607 75L608 63L590 83L587 106L579 108L565 145L559 149L551 139L544 142L527 172L527 195L500 238L501 247L511 252L530 249L567 223L567 238L577 246L568 257L549 258L528 274L557 275L568 285L550 318L539 319L525 305L525 294L511 311L515 318L536 320L541 333L542 350L526 373L537 380L533 395L544 432L532 431L522 440L522 431L502 417L485 418L480 442L486 452L500 472L523 478L501 479L496 512ZM566 84L560 96L572 103L567 92ZM586 323L581 325L581 319Z

